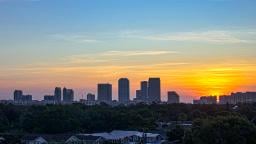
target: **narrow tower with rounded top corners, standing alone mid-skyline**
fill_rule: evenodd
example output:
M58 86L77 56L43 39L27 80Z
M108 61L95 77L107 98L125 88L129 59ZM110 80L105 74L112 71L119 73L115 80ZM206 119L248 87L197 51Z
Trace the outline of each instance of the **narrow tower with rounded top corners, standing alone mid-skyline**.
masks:
M130 101L130 84L127 78L120 78L118 80L118 100L121 103Z

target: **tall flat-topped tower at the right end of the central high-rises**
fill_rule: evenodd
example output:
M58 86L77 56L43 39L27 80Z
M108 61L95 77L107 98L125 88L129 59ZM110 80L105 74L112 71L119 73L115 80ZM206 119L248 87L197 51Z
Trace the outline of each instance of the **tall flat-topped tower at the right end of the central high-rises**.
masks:
M161 102L160 78L149 78L148 81L148 100L149 102Z

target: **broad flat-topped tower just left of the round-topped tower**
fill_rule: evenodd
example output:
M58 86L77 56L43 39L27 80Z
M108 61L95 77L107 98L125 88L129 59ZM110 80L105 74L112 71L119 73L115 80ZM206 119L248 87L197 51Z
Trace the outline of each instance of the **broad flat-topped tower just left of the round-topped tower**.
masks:
M112 102L111 84L98 84L98 101Z

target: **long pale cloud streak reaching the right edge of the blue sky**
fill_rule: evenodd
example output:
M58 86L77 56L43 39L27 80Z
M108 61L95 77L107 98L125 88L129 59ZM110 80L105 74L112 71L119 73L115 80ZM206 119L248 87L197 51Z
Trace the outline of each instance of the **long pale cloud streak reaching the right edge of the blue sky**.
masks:
M188 32L153 32L124 30L120 38L144 39L151 41L207 42L207 43L254 43L255 30L199 30Z

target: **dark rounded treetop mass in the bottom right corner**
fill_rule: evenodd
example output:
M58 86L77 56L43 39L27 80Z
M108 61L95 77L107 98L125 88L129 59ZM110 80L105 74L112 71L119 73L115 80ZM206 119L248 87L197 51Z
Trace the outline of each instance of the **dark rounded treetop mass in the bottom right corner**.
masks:
M256 127L241 116L217 116L198 119L192 131L185 134L184 143L190 144L253 144Z

